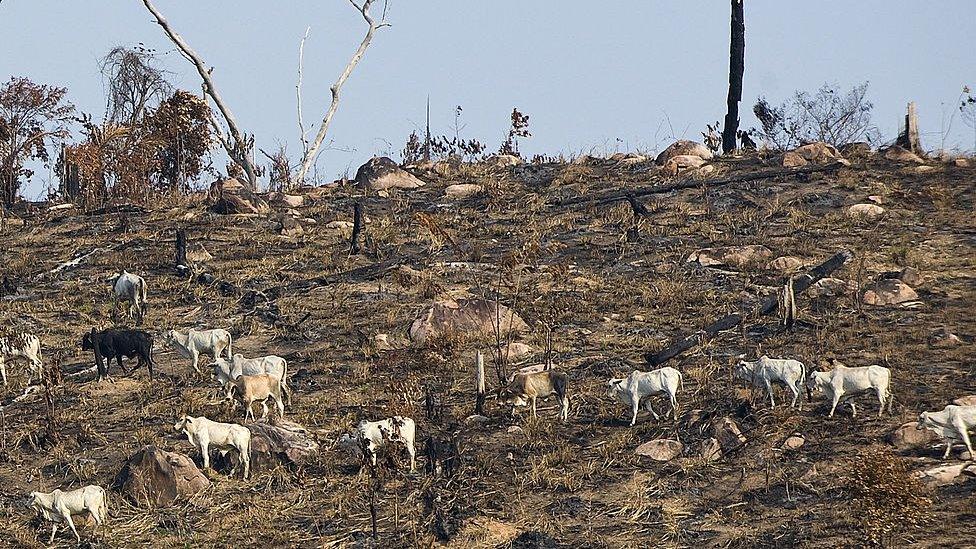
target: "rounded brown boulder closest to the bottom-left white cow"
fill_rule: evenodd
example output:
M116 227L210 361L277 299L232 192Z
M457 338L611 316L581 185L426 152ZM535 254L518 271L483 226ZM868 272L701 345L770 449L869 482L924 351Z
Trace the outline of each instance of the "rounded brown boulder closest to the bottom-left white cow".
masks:
M144 446L125 462L113 487L136 505L160 507L210 487L189 457Z

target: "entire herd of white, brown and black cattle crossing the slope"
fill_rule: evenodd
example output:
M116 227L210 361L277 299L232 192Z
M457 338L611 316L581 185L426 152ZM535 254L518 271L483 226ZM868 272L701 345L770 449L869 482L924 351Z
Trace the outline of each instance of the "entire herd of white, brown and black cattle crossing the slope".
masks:
M141 324L147 311L146 281L137 275L121 271L111 278L113 297L113 316L118 302L128 303L128 315ZM224 391L224 398L233 401L240 399L245 407L244 418L254 417L252 406L260 402L263 406L262 418L268 415L268 399L274 401L279 416L284 416L285 405L291 405L291 391L288 388L288 365L285 359L268 355L260 358L244 358L232 351L232 337L223 329L189 330L183 334L177 330L167 331L163 341L174 348L181 356L191 360L191 367L200 372L201 354L213 357L212 380ZM137 329L109 329L102 332L92 330L85 334L81 348L92 351L98 371L98 379L108 377L112 359L124 373L123 357L137 359L137 368L146 366L149 376L153 375L153 337L148 332ZM740 358L744 358L740 357ZM23 360L28 364L28 384L34 377L43 374L40 339L29 333L15 334L0 338L0 375L7 385L7 362ZM784 385L792 392L791 407L802 410L802 389L806 384L807 399L812 399L814 390L822 392L830 400L829 416L832 417L837 406L847 403L852 416L857 415L853 397L863 393L874 393L878 399L880 416L885 406L891 412L891 372L882 366L851 368L834 361L833 369L826 372L813 371L801 362L791 359L773 359L763 356L755 361L740 360L735 375L752 387L764 389L770 406L775 406L773 385ZM669 415L677 417L678 392L683 389L683 376L674 368L664 367L650 372L634 371L626 378L610 379L607 383L607 396L629 406L630 425L637 421L643 404L655 419L657 412L651 407L650 397L663 395L670 402ZM515 407L531 407L536 414L536 400L555 396L559 403L559 417L569 419L569 379L561 372L551 368L528 368L510 378L507 387L498 392L498 401ZM976 427L976 406L949 405L937 412L922 412L918 418L918 429L930 429L946 440L944 458L948 458L953 444L961 442L970 455L974 455L968 431ZM196 447L203 461L204 469L210 467L210 450L221 454L235 452L243 467L243 476L250 475L251 431L240 424L220 423L206 417L183 415L173 429L186 435ZM386 443L402 444L410 456L410 470L415 469L416 424L408 417L395 416L379 421L362 420L353 434L345 434L339 439L343 445L361 449L363 455L376 463L377 450ZM231 471L231 474L234 474ZM53 523L51 539L53 542L57 527L64 523L80 541L71 516L80 513L90 514L95 524L108 520L108 507L105 490L99 486L85 486L70 492L54 490L50 493L31 492L28 505L45 520Z

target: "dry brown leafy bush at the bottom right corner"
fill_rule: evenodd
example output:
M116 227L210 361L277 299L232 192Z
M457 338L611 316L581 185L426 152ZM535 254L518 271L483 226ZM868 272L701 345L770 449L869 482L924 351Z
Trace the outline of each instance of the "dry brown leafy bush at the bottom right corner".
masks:
M891 546L896 536L921 528L932 500L905 460L884 446L870 446L851 463L847 490L868 541Z

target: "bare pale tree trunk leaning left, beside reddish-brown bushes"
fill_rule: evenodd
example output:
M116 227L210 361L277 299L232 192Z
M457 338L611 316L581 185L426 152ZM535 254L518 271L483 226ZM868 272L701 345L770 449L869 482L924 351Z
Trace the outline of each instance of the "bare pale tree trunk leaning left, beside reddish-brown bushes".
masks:
M156 23L163 28L163 31L169 36L169 39L176 45L180 52L189 59L193 66L196 67L197 72L200 74L200 78L203 79L203 91L205 94L209 95L213 100L214 104L217 105L217 109L220 110L220 114L224 117L224 121L227 122L227 128L230 131L231 139L227 139L223 130L216 123L216 120L211 118L211 124L219 134L220 143L224 146L227 151L227 155L230 156L238 166L244 170L247 174L247 182L251 186L251 189L257 188L258 176L257 169L254 167L254 137L249 136L241 132L237 125L237 119L234 118L234 113L224 104L223 98L220 97L220 93L217 91L217 85L214 84L213 78L210 77L210 73L213 71L213 67L207 68L206 64L200 55L193 51L189 44L183 40L183 37L179 35L170 26L169 22L163 17L156 6L153 5L152 0L142 0L142 3L146 5L146 9L152 13L153 17L156 18Z

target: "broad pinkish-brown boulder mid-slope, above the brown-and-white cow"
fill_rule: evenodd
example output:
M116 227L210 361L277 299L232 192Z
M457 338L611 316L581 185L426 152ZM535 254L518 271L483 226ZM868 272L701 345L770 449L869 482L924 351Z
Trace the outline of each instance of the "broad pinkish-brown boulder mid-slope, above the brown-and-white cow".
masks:
M529 326L508 307L484 299L435 301L410 325L410 340L423 346L443 336L494 337L498 321L504 337L528 331Z

